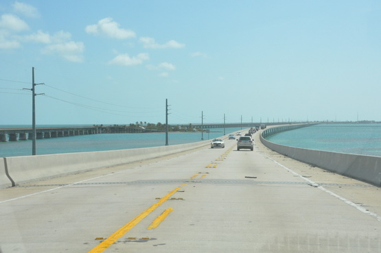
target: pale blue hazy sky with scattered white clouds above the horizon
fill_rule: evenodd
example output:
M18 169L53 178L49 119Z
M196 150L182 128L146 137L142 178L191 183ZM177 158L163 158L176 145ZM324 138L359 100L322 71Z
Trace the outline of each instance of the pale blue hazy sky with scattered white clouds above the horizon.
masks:
M0 125L381 121L381 1L0 3Z

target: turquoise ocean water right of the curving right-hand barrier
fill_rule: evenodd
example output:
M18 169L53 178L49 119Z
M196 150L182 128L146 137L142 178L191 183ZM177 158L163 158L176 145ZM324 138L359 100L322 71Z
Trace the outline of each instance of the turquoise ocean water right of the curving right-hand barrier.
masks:
M381 156L380 123L319 124L280 132L266 139L292 147Z

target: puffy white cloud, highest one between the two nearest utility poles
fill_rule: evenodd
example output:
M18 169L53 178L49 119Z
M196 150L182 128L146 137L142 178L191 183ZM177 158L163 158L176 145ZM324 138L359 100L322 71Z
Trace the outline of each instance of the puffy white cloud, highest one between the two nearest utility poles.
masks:
M113 19L105 18L98 21L98 23L95 25L87 25L85 31L88 34L100 34L109 38L135 38L135 32L120 28L119 26L119 23L113 21Z

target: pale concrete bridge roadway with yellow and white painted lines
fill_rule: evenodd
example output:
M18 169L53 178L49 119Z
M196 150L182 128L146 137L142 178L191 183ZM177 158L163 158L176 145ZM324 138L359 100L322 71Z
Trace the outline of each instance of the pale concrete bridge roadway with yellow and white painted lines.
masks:
M381 252L381 190L259 143L0 190L8 252Z

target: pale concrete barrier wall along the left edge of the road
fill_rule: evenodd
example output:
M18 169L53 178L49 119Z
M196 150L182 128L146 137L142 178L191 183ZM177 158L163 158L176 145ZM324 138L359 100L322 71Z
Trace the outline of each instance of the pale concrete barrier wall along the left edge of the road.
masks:
M226 136L224 136L226 138ZM122 149L103 152L49 154L37 156L13 156L1 158L0 188L12 186L5 174L5 162L15 184L63 176L80 171L100 169L128 162L157 158L210 145L210 140L161 147Z

